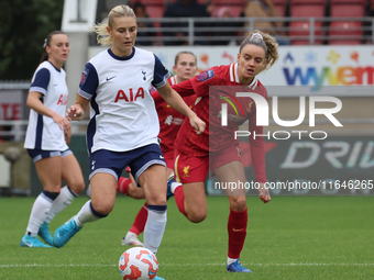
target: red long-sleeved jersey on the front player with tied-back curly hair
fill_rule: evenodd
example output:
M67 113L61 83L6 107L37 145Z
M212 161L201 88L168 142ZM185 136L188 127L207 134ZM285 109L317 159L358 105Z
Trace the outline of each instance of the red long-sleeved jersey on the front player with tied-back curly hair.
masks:
M213 87L212 87L213 86ZM230 86L230 87L228 87ZM256 125L256 105L252 98L238 98L237 92L254 92L267 100L267 91L254 77L250 86L239 82L238 64L213 67L199 76L173 86L180 96L193 92L198 97L193 110L206 122L206 131L197 135L185 122L177 135L175 147L191 156L208 156L220 153L231 145L239 145L234 132L249 120L251 157L257 182L266 182L263 127ZM228 125L222 126L222 104L228 108ZM255 133L255 138L253 137Z

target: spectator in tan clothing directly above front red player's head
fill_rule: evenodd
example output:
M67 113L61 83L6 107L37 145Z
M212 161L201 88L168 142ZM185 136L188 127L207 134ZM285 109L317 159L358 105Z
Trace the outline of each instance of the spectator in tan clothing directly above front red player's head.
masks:
M273 0L250 0L243 12L246 18L273 18L279 16ZM248 26L249 23L245 23ZM289 45L290 41L283 31L276 29L283 27L283 22L257 21L254 23L254 30L261 30L274 36L279 45Z

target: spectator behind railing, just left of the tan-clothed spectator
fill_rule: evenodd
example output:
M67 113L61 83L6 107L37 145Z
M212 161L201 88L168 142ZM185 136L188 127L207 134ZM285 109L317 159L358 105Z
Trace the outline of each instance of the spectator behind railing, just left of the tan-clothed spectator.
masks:
M233 15L231 14L230 8L229 7L221 7L218 12L217 12L217 18L220 19L228 19L228 18L233 18ZM218 22L216 24L216 27L222 27L222 29L228 29L228 27L232 27L234 30L232 31L216 31L213 32L215 36L237 36L238 35L238 31L243 27L243 23L242 22L233 22L233 21L224 21L224 22ZM229 45L229 44L233 44L237 45L237 41L235 40L220 40L220 41L212 41L212 45Z

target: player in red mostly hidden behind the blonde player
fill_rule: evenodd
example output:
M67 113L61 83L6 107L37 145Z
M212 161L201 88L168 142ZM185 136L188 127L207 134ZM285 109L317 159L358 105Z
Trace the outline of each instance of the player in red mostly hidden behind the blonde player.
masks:
M178 82L188 80L196 75L197 71L197 58L191 52L179 52L175 57L175 63L173 66L173 70L175 76L168 78L169 85L176 85ZM174 175L174 141L177 136L177 133L180 128L180 125L185 119L185 116L170 108L164 99L160 96L158 92L153 92L152 97L154 98L156 104L156 111L158 114L160 121L160 134L158 138L161 139L160 146L165 158L165 163L167 166L167 178ZM196 96L189 96L184 98L184 101L188 107L193 107L196 100ZM144 199L144 193L141 188L136 187L133 178L124 178L121 177L118 181L117 190L120 193L127 194L129 197L135 199ZM129 229L125 237L122 239L122 245L134 245L142 246L143 244L138 239L138 235L144 231L144 226L147 219L147 208L146 203L139 211L135 221L131 228Z

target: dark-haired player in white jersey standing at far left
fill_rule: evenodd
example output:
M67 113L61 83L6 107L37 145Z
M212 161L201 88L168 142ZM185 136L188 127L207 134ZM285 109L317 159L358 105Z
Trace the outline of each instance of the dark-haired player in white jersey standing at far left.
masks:
M29 91L26 104L31 110L24 147L35 163L43 191L31 210L22 247L53 246L48 231L51 220L85 189L79 164L67 146L72 131L65 117L68 90L63 65L69 52L66 34L50 33ZM64 188L61 188L62 179L67 182ZM38 240L36 235L50 245Z

